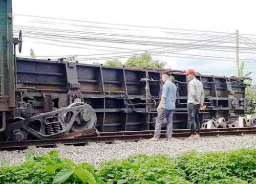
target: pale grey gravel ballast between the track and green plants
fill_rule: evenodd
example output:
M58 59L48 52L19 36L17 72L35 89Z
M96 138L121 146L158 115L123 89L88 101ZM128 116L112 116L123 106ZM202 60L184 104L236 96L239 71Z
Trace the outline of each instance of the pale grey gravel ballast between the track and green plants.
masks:
M90 143L86 146L64 146L57 148L35 148L37 155L47 153L51 150L58 150L61 157L68 157L75 162L88 162L94 166L104 160L112 158L124 158L134 154L145 153L155 154L163 153L170 156L177 156L186 151L228 151L240 148L256 148L256 135L242 136L219 136L202 137L199 140L181 140L173 139L172 142L160 140L152 142L150 140L141 140L139 142L121 142L116 141L113 144ZM17 165L24 162L27 150L0 151L0 158L10 160L11 165Z

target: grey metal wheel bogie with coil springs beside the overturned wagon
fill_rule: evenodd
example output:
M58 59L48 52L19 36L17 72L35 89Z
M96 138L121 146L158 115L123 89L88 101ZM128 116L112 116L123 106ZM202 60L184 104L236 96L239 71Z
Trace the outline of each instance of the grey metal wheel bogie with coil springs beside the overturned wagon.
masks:
M67 107L27 119L13 119L7 125L5 137L6 141L54 139L69 132L91 129L96 121L96 113L89 104L74 102Z

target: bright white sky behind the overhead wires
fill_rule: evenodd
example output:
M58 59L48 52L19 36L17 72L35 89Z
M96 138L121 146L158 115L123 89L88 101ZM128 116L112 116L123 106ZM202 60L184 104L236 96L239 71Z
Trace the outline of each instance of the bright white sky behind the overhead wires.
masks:
M134 52L134 50L144 51L156 49L158 46L152 45L135 45L128 43L108 43L99 41L76 41L65 40L51 41L38 39L35 34L32 37L31 32L26 33L26 29L33 27L41 29L59 29L59 30L72 30L80 32L104 33L111 34L126 34L137 36L151 36L151 37L164 37L168 42L179 42L182 44L188 43L187 40L172 40L173 38L179 39L192 39L202 40L215 37L220 37L228 34L234 34L239 30L243 36L255 39L256 26L254 24L255 17L255 2L254 1L66 1L66 0L13 0L13 13L14 13L14 32L17 30L24 30L23 51L18 54L19 56L29 56L29 50L32 48L37 56L51 56L51 55L93 55L86 56L88 58L95 57L94 54L118 53L118 52ZM24 16L32 15L32 16ZM40 16L40 17L35 17ZM60 19L49 19L41 17L53 17L62 19L82 20L82 21L68 21ZM87 21L91 21L87 22ZM93 22L103 22L119 25L106 25L96 24ZM145 28L145 27L131 27L120 26L122 25L137 25L145 27L161 27L161 28ZM25 28L24 28L25 27ZM110 29L111 28L111 29ZM177 30L176 30L177 29ZM198 30L198 31L182 31L185 30ZM16 30L16 31L15 31ZM201 32L212 31L212 32ZM175 32L175 33L174 33ZM225 32L214 33L214 32ZM177 33L182 33L178 35ZM202 36L192 36L189 34L201 34ZM186 35L187 34L187 35ZM74 36L75 33L69 33ZM96 35L96 37L98 36ZM92 36L92 35L90 35ZM94 35L95 36L95 35ZM209 37L207 37L209 36ZM106 37L106 36L105 36ZM45 36L44 39L48 37ZM123 37L115 37L123 38ZM172 38L172 39L170 39ZM50 38L49 38L50 39ZM125 37L125 39L131 39ZM143 40L141 38L133 38ZM72 41L73 43L63 42ZM147 41L166 41L166 39L146 39ZM145 41L145 39L144 39ZM227 43L230 47L235 47L234 40ZM245 41L241 41L245 42ZM46 44L48 43L48 44ZM50 44L49 44L50 43ZM253 48L253 44L245 45L240 44L240 47ZM90 44L90 45L89 45ZM93 46L92 44L100 45ZM223 44L224 45L224 44ZM71 48L72 47L72 48ZM115 47L115 48L114 48ZM256 48L256 45L254 45ZM116 49L122 48L122 49ZM169 49L169 48L168 48ZM177 49L177 48L170 48ZM172 57L162 56L163 54L152 55L154 59L158 59L167 63L166 67L177 70L186 70L187 68L194 68L201 74L214 74L218 76L233 76L236 75L236 63L234 59L229 61L215 60L215 59L192 59L182 58L184 54L188 55L207 55L214 57L236 58L235 48L232 52L216 52L206 50L190 49L180 51L177 53L183 55L171 54ZM245 51L245 52L248 52ZM250 49L249 52L253 52ZM176 54L177 54L176 53ZM256 53L256 52L255 52ZM107 55L108 56L108 55ZM182 57L174 57L182 56ZM240 53L240 60L248 59L245 63L245 71L253 72L251 77L256 80L256 54ZM98 57L98 56L97 56ZM192 57L192 56L189 56ZM40 57L37 57L40 58ZM41 57L44 58L44 57ZM46 57L45 57L46 58ZM57 57L48 57L56 59ZM84 58L81 56L81 58ZM120 58L125 61L127 58ZM250 60L251 59L251 60ZM92 63L94 61L104 62L105 60L89 59L80 60L79 62ZM254 62L254 63L253 63ZM254 72L255 71L255 72Z

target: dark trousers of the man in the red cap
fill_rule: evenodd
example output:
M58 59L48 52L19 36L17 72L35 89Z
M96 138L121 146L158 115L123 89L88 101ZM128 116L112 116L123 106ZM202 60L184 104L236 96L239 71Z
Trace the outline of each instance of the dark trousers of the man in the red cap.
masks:
M187 113L188 122L190 124L190 133L200 133L200 122L199 122L199 104L188 103Z

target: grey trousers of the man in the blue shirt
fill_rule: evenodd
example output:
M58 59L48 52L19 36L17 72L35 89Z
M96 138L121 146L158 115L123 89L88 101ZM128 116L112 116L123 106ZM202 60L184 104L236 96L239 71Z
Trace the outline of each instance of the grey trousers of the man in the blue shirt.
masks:
M155 127L155 133L154 133L154 138L155 139L159 139L159 137L160 137L162 123L163 123L165 118L166 118L166 122L167 122L166 134L165 134L166 138L167 139L172 138L173 114L174 114L174 110L167 110L167 109L164 109L164 108L157 114L156 127Z

